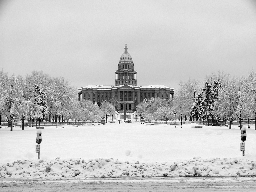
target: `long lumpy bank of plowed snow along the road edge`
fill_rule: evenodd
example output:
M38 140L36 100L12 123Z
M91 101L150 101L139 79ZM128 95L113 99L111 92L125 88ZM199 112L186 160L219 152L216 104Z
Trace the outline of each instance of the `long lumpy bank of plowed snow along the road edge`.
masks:
M165 163L129 163L111 159L24 160L0 167L0 178L58 177L219 177L255 176L256 162L248 159L200 157Z

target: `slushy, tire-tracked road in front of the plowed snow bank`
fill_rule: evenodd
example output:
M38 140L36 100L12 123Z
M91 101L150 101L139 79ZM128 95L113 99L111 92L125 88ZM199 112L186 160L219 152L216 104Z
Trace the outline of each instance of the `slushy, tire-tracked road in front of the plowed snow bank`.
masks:
M0 191L256 191L256 177L0 179Z

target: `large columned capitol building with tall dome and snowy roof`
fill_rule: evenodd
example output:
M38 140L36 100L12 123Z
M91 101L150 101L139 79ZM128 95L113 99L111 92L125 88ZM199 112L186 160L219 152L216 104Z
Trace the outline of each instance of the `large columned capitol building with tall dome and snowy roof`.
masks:
M100 105L101 101L118 103L120 110L126 105L127 110L135 110L145 98L159 97L166 100L173 98L174 89L164 85L137 85L137 71L134 70L132 56L125 44L124 53L115 71L115 85L88 85L78 89L78 99L88 99Z

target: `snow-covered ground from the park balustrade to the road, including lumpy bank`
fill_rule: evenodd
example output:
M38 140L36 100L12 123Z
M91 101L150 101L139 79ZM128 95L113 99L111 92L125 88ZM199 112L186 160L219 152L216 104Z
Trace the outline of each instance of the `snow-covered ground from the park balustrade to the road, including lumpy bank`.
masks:
M222 126L106 123L0 129L0 178L255 176L256 131Z

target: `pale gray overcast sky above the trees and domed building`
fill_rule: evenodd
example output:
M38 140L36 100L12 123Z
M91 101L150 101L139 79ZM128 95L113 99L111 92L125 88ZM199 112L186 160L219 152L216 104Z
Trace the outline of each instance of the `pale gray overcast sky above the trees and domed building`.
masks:
M9 74L114 85L126 43L138 85L247 75L256 70L256 2L0 2L0 70Z

